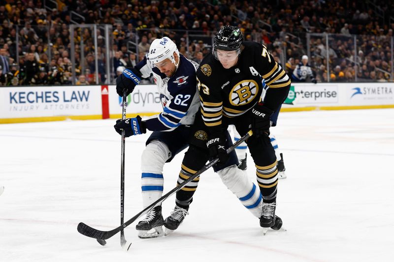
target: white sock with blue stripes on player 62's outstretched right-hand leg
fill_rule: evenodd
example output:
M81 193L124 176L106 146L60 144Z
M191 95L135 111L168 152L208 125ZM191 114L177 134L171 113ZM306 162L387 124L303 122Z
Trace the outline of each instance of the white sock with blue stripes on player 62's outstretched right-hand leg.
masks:
M241 204L259 218L263 204L262 195L248 175L235 165L218 171L218 175L227 188L241 201Z

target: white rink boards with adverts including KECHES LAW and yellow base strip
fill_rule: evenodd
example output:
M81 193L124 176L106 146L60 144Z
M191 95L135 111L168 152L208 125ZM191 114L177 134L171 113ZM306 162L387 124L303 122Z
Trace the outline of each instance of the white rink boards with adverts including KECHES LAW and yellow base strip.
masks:
M394 108L393 83L293 83L282 112ZM156 85L139 85L127 97L127 116L162 111ZM122 98L110 86L1 87L0 123L120 118Z

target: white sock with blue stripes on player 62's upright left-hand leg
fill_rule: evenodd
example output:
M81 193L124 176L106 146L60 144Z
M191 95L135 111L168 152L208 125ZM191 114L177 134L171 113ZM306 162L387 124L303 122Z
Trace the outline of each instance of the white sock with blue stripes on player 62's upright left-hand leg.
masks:
M158 141L150 142L141 156L141 189L144 207L162 197L164 189L163 167L168 159L168 147Z

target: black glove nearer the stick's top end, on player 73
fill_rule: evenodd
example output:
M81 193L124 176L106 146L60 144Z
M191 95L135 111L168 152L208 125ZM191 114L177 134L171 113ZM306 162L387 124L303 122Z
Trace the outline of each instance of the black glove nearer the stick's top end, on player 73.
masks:
M263 103L257 103L252 108L252 132L256 137L269 136L270 121L269 117L274 112L263 106Z

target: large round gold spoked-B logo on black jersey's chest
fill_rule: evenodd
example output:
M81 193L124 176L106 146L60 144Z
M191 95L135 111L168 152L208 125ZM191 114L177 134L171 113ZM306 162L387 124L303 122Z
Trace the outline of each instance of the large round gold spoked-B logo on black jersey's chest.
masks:
M259 92L259 85L253 80L243 80L232 87L230 103L233 106L246 105Z

